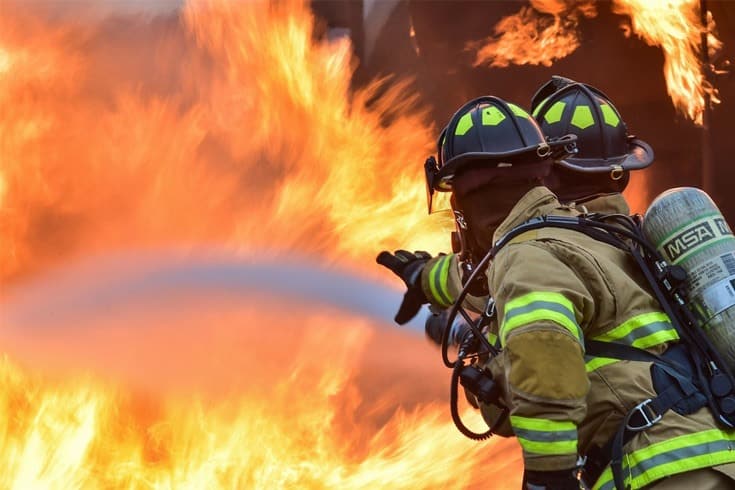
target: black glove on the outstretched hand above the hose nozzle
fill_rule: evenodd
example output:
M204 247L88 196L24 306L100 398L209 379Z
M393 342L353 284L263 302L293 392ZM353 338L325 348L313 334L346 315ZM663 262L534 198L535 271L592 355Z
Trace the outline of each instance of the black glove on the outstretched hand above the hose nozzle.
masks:
M403 279L408 288L406 294L403 295L403 301L395 317L395 321L399 325L403 325L415 317L421 309L421 305L429 302L421 289L421 271L424 270L424 266L430 258L431 255L426 252L411 253L406 250L396 250L395 254L386 251L378 254L376 262L387 267Z

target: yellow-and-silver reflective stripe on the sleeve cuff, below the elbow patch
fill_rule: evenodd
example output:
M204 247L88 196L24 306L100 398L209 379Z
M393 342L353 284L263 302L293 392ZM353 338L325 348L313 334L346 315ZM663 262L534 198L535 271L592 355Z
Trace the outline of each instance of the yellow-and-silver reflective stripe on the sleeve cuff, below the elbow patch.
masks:
M510 425L524 453L536 455L577 454L574 422L510 416Z

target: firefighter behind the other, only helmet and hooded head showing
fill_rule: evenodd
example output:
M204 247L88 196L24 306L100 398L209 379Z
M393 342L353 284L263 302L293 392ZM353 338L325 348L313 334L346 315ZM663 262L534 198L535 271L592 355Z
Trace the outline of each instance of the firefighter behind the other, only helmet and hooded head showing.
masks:
M552 167L544 182L563 203L590 213L629 214L621 194L630 171L653 162L653 149L627 132L610 99L600 90L554 76L531 99L531 112L547 138L577 136L577 155Z

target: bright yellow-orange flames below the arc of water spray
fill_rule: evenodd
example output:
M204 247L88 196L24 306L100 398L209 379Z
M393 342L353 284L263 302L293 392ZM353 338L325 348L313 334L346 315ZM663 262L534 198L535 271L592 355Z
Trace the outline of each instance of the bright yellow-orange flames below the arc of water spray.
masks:
M396 379L393 387L383 383L375 399L364 399L369 387L360 381L360 371L380 369L386 361L401 365L408 378L418 367L421 376L437 379L441 367L414 364L422 357L415 349L414 354L405 351L408 362L377 357L384 354L375 349L375 341L407 349L407 339L373 339L376 331L365 321L334 311L302 311L298 316L263 314L218 302L216 312L201 306L188 309L188 320L164 317L176 320L174 328L156 325L157 315L138 315L136 328L144 329L146 338L137 341L126 335L128 325L109 321L40 339L6 331L6 345L16 352L43 354L47 369L56 368L57 375L7 359L0 362L0 486L468 488L504 471L511 475L507 486L496 488L519 485L517 474L509 470L515 467L517 472L520 453L509 441L479 445L462 439L448 423L443 402L396 411L393 397L398 394L409 402L411 396L436 391L428 378L413 375L411 384ZM256 327L262 321L294 320L299 332ZM232 328L235 322L246 325L244 330ZM237 351L233 346L253 335L278 342L280 350L267 357L232 355ZM161 351L162 341L169 350ZM24 348L23 342L29 345ZM206 356L212 348L222 356L219 362ZM70 361L79 364L90 355L98 357L86 362L103 372L137 365L140 373L129 373L128 385L138 388L121 391L98 377L75 374ZM169 373L178 373L178 390L172 391ZM206 397L190 394L197 376L207 385ZM231 383L242 378L253 382L240 382L233 392ZM211 380L220 386L212 387ZM493 453L503 456L503 462L492 464Z

